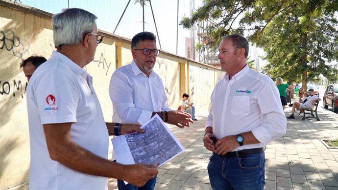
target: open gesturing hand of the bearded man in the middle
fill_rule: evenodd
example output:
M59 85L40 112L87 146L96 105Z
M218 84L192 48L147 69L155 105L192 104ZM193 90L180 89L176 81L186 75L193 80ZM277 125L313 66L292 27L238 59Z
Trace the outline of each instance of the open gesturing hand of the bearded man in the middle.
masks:
M190 123L193 124L192 116L189 113L180 111L168 111L169 124L175 125L180 128L190 127Z

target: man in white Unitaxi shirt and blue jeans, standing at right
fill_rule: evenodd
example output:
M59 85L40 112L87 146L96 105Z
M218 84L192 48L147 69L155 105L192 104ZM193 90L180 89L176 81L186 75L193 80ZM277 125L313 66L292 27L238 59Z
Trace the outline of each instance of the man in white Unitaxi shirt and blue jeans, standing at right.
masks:
M249 43L238 34L219 43L226 71L211 95L203 143L213 152L208 173L213 190L263 190L264 147L286 132L278 89L270 77L249 68Z

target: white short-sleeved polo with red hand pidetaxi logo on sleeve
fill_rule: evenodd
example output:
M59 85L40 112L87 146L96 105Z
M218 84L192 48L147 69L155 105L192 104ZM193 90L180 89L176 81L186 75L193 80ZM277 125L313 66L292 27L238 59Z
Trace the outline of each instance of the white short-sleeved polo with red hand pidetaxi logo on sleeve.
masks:
M54 51L27 86L30 133L30 190L107 190L107 178L83 174L49 157L43 124L72 123L71 139L108 157L108 131L92 77Z

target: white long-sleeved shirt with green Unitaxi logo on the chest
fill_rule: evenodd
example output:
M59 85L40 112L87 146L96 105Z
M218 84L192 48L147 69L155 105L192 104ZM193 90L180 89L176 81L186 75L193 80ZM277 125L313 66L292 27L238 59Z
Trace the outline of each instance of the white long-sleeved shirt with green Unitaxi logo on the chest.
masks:
M273 81L246 65L231 80L225 74L215 86L206 127L213 127L217 138L252 131L260 143L235 150L261 148L286 132L287 119L281 105Z

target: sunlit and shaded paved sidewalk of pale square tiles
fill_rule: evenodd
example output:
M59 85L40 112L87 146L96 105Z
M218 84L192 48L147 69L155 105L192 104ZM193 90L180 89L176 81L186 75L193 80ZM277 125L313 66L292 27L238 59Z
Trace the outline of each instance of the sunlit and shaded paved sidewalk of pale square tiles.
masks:
M288 119L287 133L266 147L266 190L338 190L338 149L319 140L338 138L338 114L319 106L320 121ZM290 115L291 108L285 109ZM296 114L297 115L297 114ZM159 169L156 190L211 190L203 146L207 115L197 115L192 127L169 126L186 151ZM109 190L117 190L109 179ZM27 185L10 190L26 190Z

